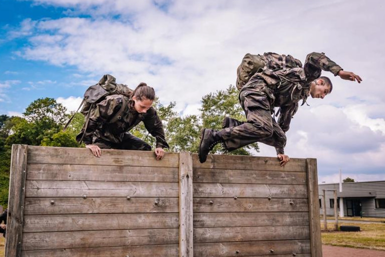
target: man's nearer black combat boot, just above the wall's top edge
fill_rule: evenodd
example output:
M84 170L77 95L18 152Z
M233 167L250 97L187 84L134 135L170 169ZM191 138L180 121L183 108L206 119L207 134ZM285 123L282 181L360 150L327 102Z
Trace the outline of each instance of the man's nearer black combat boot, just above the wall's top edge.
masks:
M201 130L201 142L199 143L198 149L199 161L204 163L207 159L207 155L214 148L214 146L223 142L224 140L219 131L203 128Z

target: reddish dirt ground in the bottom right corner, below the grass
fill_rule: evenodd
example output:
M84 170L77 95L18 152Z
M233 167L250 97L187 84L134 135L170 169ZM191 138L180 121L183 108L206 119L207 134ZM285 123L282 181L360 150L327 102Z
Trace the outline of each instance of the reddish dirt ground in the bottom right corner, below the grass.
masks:
M385 251L322 245L322 256L323 257L352 257L352 256L385 257Z

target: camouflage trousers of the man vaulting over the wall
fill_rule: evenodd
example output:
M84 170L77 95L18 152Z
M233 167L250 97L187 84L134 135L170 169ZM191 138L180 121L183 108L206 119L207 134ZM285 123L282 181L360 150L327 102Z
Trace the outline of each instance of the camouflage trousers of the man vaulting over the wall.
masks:
M239 93L239 102L246 114L246 122L231 119L230 127L219 133L228 151L251 143L264 143L274 146L283 153L286 144L285 132L271 116L271 102L261 90L245 89Z

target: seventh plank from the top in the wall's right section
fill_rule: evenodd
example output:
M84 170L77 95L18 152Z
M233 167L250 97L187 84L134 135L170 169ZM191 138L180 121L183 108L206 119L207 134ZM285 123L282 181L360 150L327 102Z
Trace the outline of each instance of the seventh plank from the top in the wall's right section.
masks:
M273 250L273 252L270 252ZM238 253L237 253L238 251ZM275 240L194 244L194 256L250 256L310 253L310 240Z

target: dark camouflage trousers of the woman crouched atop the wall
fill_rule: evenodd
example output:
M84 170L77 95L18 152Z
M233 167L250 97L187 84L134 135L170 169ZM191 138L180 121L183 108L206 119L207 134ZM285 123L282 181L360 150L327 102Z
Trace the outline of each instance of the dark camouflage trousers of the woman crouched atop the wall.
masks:
M92 141L92 144L99 146L101 149L151 151L151 146L149 144L130 133L124 133L122 143L119 144L112 143L98 137L94 137Z

